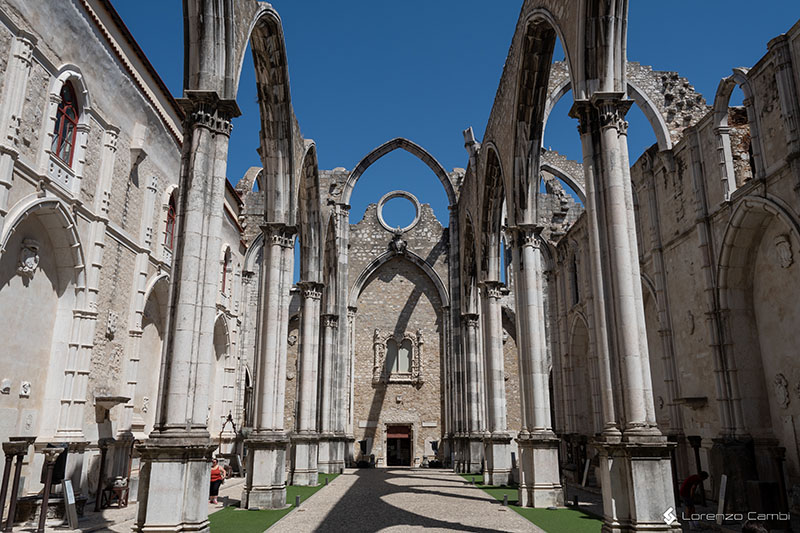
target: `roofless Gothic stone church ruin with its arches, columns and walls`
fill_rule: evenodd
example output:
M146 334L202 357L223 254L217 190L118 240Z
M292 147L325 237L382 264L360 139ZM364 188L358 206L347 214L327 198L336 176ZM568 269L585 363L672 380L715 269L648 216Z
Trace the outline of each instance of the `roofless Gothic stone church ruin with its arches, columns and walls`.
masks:
M731 510L800 508L800 25L707 102L626 62L627 2L526 0L466 171L407 139L324 171L275 10L184 9L175 101L107 0L0 1L9 514L39 501L53 443L79 499L138 486L147 532L208 530L214 454L244 459L248 508L359 461L483 472L534 507L586 478L604 531L677 531L664 513L700 469ZM263 168L234 189L248 42ZM541 148L570 90L582 162ZM632 105L657 144L631 166ZM398 149L449 220L404 191L350 220ZM405 228L383 217L393 196L414 204Z

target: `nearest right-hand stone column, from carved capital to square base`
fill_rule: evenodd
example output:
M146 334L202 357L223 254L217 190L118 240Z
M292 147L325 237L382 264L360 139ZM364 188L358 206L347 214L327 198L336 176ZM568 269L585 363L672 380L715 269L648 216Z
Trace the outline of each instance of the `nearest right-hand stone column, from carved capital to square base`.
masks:
M605 418L604 432L594 442L600 458L603 531L679 531L677 522L664 521L664 512L675 506L671 448L651 420L654 407L641 327L641 287L638 291L636 287L641 280L638 264L633 264L637 246L627 144L620 140L631 102L623 96L596 93L591 101L579 101L573 107L583 142Z

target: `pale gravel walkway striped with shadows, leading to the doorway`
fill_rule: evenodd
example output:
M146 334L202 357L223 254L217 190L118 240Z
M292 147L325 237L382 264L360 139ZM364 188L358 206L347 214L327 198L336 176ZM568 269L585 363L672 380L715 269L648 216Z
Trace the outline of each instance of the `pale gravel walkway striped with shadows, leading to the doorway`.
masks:
M496 531L543 533L511 509L442 470L347 470L270 533Z

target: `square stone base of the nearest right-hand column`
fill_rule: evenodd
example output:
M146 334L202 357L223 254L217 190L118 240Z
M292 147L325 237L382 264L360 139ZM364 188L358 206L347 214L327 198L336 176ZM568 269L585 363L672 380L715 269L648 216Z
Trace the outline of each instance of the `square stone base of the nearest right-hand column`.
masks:
M636 442L592 443L599 452L603 491L603 533L681 531L665 514L675 506L670 454L674 444L664 437Z

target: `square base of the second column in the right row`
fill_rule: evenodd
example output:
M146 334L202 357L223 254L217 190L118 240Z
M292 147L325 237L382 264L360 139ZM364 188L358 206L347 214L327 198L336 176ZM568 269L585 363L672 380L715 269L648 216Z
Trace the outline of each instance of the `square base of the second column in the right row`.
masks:
M564 490L558 472L559 439L551 431L520 436L519 505L522 507L561 507Z

